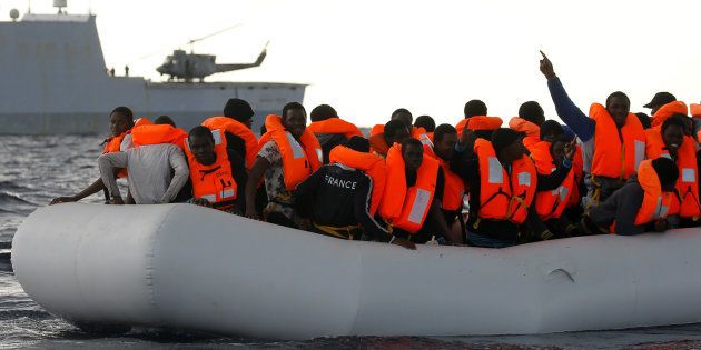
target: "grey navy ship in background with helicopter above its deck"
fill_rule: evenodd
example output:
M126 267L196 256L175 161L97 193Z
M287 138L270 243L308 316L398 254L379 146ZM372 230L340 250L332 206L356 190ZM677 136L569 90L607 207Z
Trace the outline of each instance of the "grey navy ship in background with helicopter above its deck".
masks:
M248 101L257 131L265 116L279 113L289 101L302 102L306 84L282 82L204 82L218 72L258 67L218 64L211 54L176 50L158 67L167 81L115 77L107 70L93 14L67 14L66 0L55 0L58 13L12 10L0 22L0 133L66 134L108 132L107 116L127 106L136 117L170 116L186 130L220 116L229 98Z

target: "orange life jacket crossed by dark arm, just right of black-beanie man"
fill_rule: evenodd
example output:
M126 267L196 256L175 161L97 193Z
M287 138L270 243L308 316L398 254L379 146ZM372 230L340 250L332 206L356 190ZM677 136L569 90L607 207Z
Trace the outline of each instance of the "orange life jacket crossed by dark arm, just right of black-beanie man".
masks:
M549 176L555 170L550 147L550 142L541 141L531 149L531 158L539 174ZM541 220L560 218L570 202L574 187L574 169L570 169L560 187L551 191L539 191L535 194L535 211Z

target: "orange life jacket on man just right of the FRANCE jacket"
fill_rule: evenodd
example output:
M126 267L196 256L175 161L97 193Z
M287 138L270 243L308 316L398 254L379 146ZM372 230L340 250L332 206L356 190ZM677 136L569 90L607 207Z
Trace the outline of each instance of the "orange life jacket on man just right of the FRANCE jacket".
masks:
M416 183L406 186L406 172L402 146L395 143L387 152L387 179L385 196L379 203L379 214L393 227L416 233L431 210L436 191L438 161L424 157L416 170Z

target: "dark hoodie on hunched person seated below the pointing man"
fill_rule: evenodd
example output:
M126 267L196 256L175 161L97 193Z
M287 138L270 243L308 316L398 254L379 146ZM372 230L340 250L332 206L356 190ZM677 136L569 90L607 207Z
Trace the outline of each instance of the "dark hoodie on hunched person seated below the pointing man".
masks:
M646 231L646 224L636 226L635 217L642 206L645 192L638 182L638 174L632 174L628 182L611 197L589 213L592 221L602 228L609 228L615 220L615 232L621 236L640 234Z

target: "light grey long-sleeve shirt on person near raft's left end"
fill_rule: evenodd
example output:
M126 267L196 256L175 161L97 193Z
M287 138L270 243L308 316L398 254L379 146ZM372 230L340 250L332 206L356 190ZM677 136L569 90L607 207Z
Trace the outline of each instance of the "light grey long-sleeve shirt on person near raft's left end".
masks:
M169 203L187 182L189 167L177 146L149 144L98 159L100 176L110 196L119 194L115 170L127 168L129 191L137 204Z

